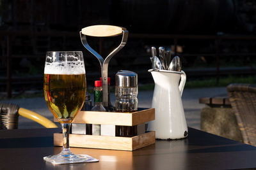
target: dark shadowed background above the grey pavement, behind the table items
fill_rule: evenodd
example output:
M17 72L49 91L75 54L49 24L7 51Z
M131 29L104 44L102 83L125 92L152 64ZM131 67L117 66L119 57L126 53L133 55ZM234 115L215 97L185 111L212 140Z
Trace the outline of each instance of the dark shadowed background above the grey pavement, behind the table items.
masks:
M253 0L0 0L0 97L42 92L47 51L83 51L87 85L93 87L99 62L81 44L79 31L97 24L129 31L127 44L109 64L111 85L118 70L128 69L153 89L147 71L151 46L181 57L187 88L256 83ZM89 37L88 43L106 57L121 39Z

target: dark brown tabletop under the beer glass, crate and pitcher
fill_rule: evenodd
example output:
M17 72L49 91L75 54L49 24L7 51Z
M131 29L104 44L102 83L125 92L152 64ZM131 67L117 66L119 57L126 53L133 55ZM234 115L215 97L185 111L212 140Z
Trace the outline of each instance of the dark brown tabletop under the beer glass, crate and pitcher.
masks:
M52 133L61 129L0 131L0 169L245 169L256 167L256 147L189 128L186 139L156 141L135 150L71 148L99 162L55 165L44 156L61 152Z

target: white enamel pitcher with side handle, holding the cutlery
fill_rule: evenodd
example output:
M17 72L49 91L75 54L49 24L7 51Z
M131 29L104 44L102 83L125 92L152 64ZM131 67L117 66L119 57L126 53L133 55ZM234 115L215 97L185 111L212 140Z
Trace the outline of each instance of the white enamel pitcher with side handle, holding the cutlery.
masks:
M155 120L148 122L148 131L156 131L157 139L185 138L188 136L188 126L181 96L186 83L186 74L184 71L159 69L148 71L155 82L152 108L156 110Z

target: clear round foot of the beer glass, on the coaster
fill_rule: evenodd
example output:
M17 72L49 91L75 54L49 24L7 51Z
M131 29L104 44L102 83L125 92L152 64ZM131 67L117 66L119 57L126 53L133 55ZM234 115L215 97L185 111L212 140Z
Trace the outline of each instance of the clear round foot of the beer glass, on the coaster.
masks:
M75 155L70 152L70 150L62 150L58 155L50 155L44 157L44 160L51 162L52 164L72 164L72 163L81 163L81 162L92 162L92 157L88 155Z

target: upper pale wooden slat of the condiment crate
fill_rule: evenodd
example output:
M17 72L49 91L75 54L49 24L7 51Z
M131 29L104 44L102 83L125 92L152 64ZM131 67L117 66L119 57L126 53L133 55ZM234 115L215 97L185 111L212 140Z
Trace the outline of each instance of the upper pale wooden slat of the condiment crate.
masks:
M136 111L133 113L80 111L77 113L75 124L102 124L102 125L138 125L155 119L155 109ZM54 122L58 122L54 118Z

